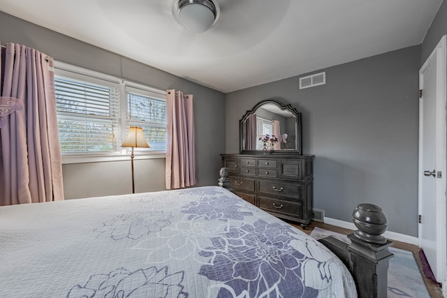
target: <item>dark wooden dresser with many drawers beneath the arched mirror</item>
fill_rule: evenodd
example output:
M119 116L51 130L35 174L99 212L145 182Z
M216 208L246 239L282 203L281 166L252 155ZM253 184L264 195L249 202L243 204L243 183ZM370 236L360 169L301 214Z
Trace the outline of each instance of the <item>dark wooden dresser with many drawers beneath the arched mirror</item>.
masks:
M314 157L299 154L221 154L240 198L306 228L314 217Z

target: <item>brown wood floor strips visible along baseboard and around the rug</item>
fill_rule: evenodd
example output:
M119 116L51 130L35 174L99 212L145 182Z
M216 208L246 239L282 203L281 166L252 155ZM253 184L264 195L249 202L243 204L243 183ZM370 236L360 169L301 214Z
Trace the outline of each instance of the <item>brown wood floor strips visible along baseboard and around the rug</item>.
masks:
M300 225L297 225L294 223L290 223L290 224L293 225L294 227L302 230ZM339 227L336 227L335 225L328 225L327 223L319 223L317 221L311 221L311 223L309 223L309 225L307 226L307 229L302 230L302 231L305 232L306 234L310 234L312 232L312 230L314 230L315 227L322 228L325 230L330 230L332 232L337 232L340 234L351 234L353 232L353 230L339 228ZM400 241L393 241L393 247L403 249L405 251L411 251L411 253L413 253L414 258L416 259L416 262L419 265L419 269L420 269L421 275L423 276L425 286L427 287L427 290L430 293L430 297L443 298L442 290L437 285L437 283L434 283L433 281L431 281L430 279L425 277L425 275L422 273L422 263L420 262L419 253L418 253L419 247L415 246L415 245L411 245L411 244L406 244L406 243L400 242Z

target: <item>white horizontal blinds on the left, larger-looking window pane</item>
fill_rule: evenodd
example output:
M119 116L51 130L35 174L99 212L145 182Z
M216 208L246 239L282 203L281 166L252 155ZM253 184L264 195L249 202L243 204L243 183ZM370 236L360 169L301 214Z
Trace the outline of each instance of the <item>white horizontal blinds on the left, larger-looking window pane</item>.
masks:
M117 151L119 84L110 87L110 82L95 84L57 76L55 89L61 151Z

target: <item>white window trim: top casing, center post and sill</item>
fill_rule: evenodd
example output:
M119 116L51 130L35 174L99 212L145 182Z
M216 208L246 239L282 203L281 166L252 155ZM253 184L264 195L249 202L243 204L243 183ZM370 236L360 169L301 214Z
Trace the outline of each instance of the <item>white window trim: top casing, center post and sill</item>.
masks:
M62 153L62 163L94 163L105 161L126 161L129 159L131 149L121 147L128 131L127 126L127 96L126 87L138 89L140 92L150 94L150 97L166 101L166 91L155 89L144 84L129 82L119 77L105 75L94 70L73 66L61 61L54 61L54 76L66 77L72 80L98 84L105 87L118 88L119 90L119 116L117 117L117 151L110 152L83 152L83 153ZM144 95L144 94L142 94ZM166 151L137 150L135 159L165 158Z

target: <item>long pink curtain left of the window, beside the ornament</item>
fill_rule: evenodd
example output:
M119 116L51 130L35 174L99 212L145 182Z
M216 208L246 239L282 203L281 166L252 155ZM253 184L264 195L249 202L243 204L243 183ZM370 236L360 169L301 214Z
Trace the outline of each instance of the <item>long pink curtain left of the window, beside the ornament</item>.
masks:
M52 59L8 43L0 64L1 96L24 103L0 128L0 205L64 200Z

